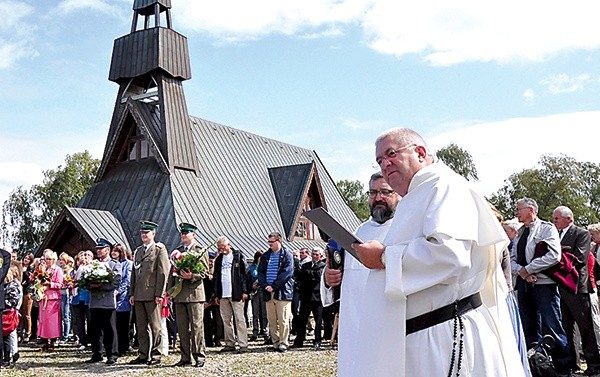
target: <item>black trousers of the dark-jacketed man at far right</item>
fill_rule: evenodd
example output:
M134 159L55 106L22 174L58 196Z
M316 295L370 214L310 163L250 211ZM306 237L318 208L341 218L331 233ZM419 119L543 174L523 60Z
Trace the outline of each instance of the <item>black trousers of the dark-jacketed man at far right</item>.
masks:
M600 352L596 343L594 322L592 319L592 305L588 293L572 294L564 289L560 291L560 310L562 312L563 327L567 333L569 353L571 354L571 369L579 369L581 360L577 347L573 343L573 327L577 323L581 334L581 348L585 355L588 368L600 368Z

